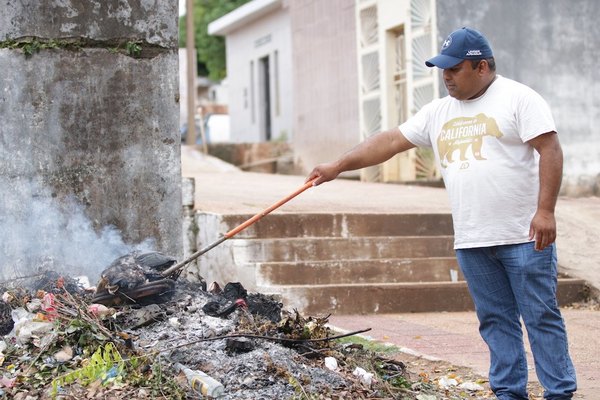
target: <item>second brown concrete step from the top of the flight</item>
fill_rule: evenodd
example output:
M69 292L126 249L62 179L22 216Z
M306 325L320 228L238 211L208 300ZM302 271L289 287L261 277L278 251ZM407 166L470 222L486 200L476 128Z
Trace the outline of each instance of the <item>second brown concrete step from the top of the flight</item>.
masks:
M236 264L319 260L452 257L452 236L233 239Z

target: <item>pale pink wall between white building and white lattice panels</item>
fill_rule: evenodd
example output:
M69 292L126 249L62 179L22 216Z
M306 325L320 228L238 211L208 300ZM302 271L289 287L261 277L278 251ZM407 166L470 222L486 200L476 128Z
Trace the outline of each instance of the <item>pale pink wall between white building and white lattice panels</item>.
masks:
M360 141L354 0L290 2L294 162L304 172Z

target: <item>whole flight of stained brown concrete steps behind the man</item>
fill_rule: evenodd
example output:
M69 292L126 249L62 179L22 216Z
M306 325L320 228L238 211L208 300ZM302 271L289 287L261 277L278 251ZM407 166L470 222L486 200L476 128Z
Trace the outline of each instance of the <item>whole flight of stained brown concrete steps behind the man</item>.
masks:
M251 215L198 214L199 246ZM449 214L271 214L198 259L210 283L241 282L303 313L472 310ZM559 279L560 304L586 294Z

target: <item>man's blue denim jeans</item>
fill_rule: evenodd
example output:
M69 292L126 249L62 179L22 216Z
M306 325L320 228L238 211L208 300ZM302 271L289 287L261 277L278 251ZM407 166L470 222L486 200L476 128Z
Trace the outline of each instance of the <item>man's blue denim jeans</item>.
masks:
M523 318L546 399L570 399L577 389L567 333L558 309L555 244L534 242L456 250L490 349L490 386L498 399L527 400Z

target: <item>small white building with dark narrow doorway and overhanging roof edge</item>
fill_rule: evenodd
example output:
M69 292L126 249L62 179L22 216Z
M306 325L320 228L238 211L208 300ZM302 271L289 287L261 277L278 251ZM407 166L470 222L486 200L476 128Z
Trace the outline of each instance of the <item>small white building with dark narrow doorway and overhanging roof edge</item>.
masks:
M255 0L209 25L226 38L231 139L289 140L292 135L290 16L282 0Z

